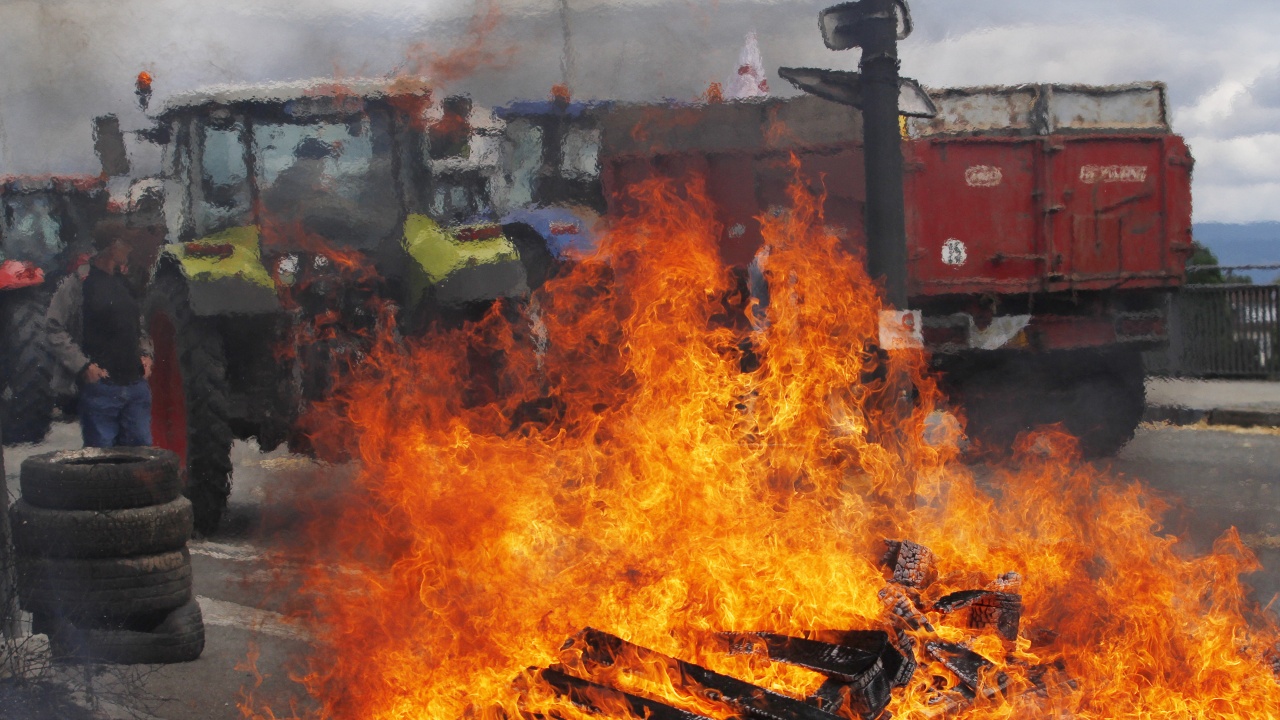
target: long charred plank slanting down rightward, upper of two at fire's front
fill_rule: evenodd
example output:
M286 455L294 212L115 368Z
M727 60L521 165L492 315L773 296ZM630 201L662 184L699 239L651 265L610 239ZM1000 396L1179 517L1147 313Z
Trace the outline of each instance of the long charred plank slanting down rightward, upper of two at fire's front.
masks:
M731 711L764 720L835 720L799 700L759 685L721 675L700 665L630 643L603 630L586 628L573 638L582 653L582 666L595 674L614 667L650 680L669 680L699 697L723 705ZM655 676L660 671L663 676Z

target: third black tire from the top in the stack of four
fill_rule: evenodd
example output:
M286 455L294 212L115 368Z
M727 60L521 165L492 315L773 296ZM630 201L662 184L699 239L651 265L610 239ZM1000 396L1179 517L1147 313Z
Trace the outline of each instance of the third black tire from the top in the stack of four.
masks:
M23 610L84 625L123 621L192 600L187 548L137 557L68 560L18 556Z

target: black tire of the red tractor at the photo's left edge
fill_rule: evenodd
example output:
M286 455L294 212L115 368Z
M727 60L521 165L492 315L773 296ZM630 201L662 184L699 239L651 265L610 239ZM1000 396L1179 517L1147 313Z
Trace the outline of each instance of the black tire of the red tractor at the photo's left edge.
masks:
M54 421L54 356L49 346L45 314L50 296L41 287L4 293L0 316L0 415L6 445L45 439Z

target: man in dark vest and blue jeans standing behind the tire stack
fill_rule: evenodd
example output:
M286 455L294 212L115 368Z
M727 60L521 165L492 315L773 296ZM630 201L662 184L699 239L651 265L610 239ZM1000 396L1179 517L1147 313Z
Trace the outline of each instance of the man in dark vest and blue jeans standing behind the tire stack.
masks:
M123 233L100 225L88 274L65 278L49 305L55 388L78 388L84 447L151 445L151 340L127 278Z

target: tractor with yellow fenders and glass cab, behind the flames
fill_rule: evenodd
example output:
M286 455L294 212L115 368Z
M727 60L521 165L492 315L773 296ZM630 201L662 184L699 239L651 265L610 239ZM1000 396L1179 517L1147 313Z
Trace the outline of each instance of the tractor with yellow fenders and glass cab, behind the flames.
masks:
M545 279L545 240L488 220L500 138L476 115L404 78L220 88L156 115L152 429L186 460L201 532L225 509L233 439L305 446L300 413L388 316L416 332Z

